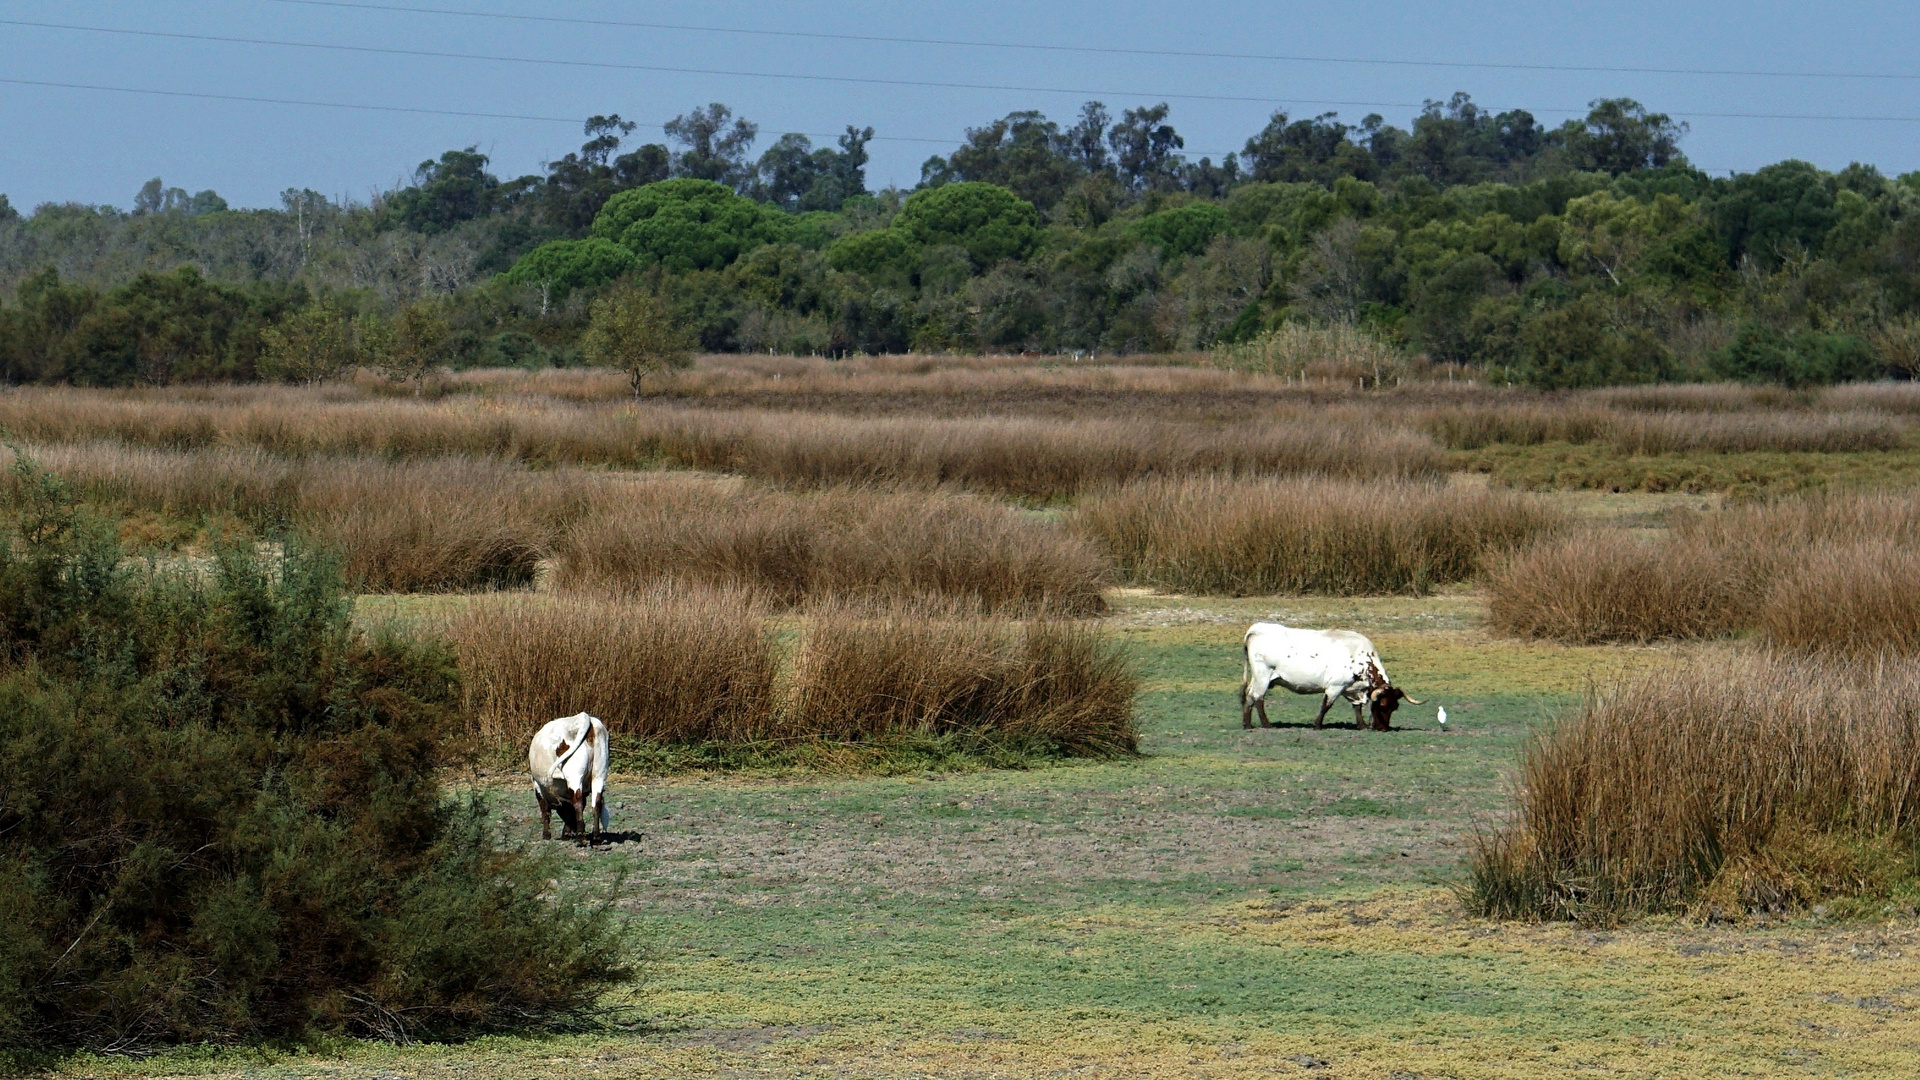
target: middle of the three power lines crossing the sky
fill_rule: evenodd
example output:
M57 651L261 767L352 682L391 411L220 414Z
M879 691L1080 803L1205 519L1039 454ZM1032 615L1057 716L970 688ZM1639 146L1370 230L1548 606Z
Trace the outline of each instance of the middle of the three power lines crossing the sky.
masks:
M173 38L173 40L200 40L215 44L263 44L275 48L307 48L323 52L361 52L376 56L413 56L426 60L480 60L492 63L534 63L534 65L555 65L555 67L595 67L612 71L655 71L666 75L720 75L728 79L789 79L806 83L852 83L868 86L931 86L947 90L1014 90L1021 94L1071 94L1071 96L1129 96L1129 98L1160 98L1160 100L1190 100L1190 102L1252 102L1263 106L1356 106L1356 108L1407 108L1419 110L1427 108L1427 102L1342 102L1325 98L1256 98L1256 96L1236 96L1236 94L1173 94L1173 92L1142 92L1142 90L1087 90L1087 88L1068 88L1068 86L1016 86L998 83L945 83L929 79L874 79L860 75L785 75L772 71L730 71L714 67L668 67L653 63L612 63L597 60L547 60L534 56L499 56L499 54L480 54L480 52L438 52L438 50L417 50L417 48L392 48L392 46L371 46L371 44L326 44L326 42L301 42L301 40L276 40L276 38L242 38L225 35L190 35L179 31L129 31L117 27L83 27L75 23L40 23L29 19L0 19L6 27L33 27L33 29L52 29L52 31L77 31L77 33L96 33L96 35L121 35L121 37L144 37L144 38ZM1540 113L1555 115L1582 115L1586 110L1557 110L1540 108L1530 110ZM1920 123L1920 117L1903 115L1807 115L1807 113L1720 113L1720 111L1678 111L1682 117L1701 117L1701 119L1793 119L1793 121L1862 121L1862 123Z

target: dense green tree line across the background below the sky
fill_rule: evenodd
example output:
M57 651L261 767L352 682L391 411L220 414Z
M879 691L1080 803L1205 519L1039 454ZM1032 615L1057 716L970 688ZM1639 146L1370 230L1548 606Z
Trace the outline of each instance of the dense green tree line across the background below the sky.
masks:
M1920 173L1709 177L1686 125L1624 98L1561 127L1467 94L1407 129L1273 113L1221 161L1165 104L1087 102L968 129L912 190L868 188L872 127L755 154L710 104L634 131L595 115L518 179L447 150L365 206L161 181L131 213L0 202L0 379L582 363L595 309L636 296L712 352L1169 352L1313 323L1540 386L1920 369Z

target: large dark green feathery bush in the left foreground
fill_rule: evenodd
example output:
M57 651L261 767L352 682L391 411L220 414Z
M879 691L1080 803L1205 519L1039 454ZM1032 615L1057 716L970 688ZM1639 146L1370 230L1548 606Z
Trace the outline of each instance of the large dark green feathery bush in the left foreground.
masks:
M442 798L451 659L349 623L334 563L127 565L31 463L0 538L0 1045L457 1036L628 974Z

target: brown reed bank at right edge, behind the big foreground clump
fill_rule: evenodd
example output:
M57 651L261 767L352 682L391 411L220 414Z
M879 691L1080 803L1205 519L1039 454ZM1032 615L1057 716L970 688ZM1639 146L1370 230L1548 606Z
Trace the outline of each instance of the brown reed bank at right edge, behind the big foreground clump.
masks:
M1920 651L1920 494L1807 496L1580 532L1500 559L1496 630L1651 642L1761 630L1801 650Z

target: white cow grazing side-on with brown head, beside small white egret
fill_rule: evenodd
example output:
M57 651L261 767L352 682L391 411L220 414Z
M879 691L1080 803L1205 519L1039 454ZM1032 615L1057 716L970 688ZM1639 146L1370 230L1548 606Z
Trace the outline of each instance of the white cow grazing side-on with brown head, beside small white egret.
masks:
M1246 669L1240 678L1240 726L1260 726L1267 721L1267 690L1284 686L1294 694L1325 694L1313 726L1327 721L1327 709L1340 698L1354 705L1354 726L1361 726L1361 709L1373 705L1373 730L1392 726L1394 709L1402 700L1415 705L1405 690L1386 684L1386 665L1365 634L1352 630L1300 630L1279 623L1254 623L1246 628Z

